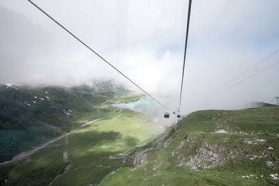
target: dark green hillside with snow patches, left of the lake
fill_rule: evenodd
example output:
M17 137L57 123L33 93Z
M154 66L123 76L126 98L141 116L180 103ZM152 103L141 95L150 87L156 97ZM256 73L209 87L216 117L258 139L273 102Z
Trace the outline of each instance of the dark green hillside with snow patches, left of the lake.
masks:
M73 88L0 86L0 162L83 123L113 114L117 109L102 104L127 95L126 88L113 82L93 82Z

